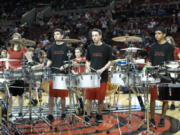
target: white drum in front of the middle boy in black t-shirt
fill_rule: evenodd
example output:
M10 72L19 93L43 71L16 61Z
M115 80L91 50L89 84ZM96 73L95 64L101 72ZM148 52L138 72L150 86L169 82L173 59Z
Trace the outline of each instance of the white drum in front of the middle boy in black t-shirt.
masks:
M76 80L79 88L99 88L101 77L97 73L86 73L77 75Z

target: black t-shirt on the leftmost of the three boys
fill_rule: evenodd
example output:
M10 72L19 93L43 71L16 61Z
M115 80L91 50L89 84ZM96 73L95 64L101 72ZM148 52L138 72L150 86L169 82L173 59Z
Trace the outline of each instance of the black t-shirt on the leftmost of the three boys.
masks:
M60 68L64 65L64 61L68 60L67 53L69 48L65 43L62 45L53 44L47 51L47 58L52 61L51 67ZM60 71L52 68L53 73L66 73L65 71Z

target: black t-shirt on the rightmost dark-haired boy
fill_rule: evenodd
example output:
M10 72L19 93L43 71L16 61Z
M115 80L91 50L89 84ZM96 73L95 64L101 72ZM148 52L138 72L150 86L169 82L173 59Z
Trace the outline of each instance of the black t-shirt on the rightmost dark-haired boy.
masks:
M152 66L161 65L166 61L172 61L174 48L169 43L158 44L154 43L149 51L149 59Z

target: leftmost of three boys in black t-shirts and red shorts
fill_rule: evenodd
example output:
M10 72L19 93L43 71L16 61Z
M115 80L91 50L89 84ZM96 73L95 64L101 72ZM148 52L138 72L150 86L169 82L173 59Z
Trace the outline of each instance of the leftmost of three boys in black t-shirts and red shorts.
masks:
M66 73L63 65L64 65L64 61L68 60L67 53L69 48L64 42L61 41L63 37L64 37L63 30L55 29L54 31L55 44L52 44L47 51L47 58L48 58L47 67L51 66L52 73L55 74ZM62 108L61 118L64 119L66 117L65 98L68 97L68 90L53 89L53 82L51 80L49 84L49 115L47 116L47 118L50 121L54 120L54 116L53 116L54 97L61 98L61 108Z

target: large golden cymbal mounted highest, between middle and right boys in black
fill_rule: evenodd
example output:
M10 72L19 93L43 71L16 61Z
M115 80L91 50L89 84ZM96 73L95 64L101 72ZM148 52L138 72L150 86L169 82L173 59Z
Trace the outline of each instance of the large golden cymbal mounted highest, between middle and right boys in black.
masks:
M113 41L116 42L141 42L142 38L137 36L120 36L120 37L114 37L112 38Z

